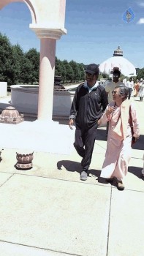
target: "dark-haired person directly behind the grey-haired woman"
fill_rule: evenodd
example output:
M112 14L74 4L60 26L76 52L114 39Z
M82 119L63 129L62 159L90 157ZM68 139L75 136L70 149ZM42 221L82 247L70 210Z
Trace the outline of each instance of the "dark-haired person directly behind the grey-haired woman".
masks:
M115 89L115 86L124 86L124 83L122 83L119 80L120 76L121 76L121 72L119 71L118 67L114 67L113 68L113 80L110 83L107 83L107 85L105 86L108 103L113 102L112 91ZM107 122L106 135L108 133L108 125L109 125L109 123Z

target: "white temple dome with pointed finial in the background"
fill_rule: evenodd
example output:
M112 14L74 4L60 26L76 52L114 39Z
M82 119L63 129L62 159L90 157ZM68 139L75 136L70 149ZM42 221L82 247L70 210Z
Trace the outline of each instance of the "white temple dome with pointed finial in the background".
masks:
M123 57L123 50L121 50L119 46L114 50L113 57L103 61L102 64L99 65L99 71L110 75L113 73L113 67L118 67L121 74L127 77L136 76L134 65Z

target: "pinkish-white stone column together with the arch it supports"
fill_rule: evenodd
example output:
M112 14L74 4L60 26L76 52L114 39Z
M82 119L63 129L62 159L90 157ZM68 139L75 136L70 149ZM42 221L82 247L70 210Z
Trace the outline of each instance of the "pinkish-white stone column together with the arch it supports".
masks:
M66 0L1 0L0 9L12 2L25 3L31 12L29 28L40 39L38 120L52 121L56 40L67 33Z

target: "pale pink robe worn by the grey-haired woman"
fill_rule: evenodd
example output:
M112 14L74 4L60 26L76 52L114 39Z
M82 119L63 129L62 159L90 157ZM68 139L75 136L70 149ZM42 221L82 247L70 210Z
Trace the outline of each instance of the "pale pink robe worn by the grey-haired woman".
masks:
M114 105L114 102L109 105ZM132 104L131 116L134 126L134 135L137 137L140 132L139 124L134 105ZM102 123L108 121L105 113L101 120ZM126 176L129 160L132 154L131 142L132 131L129 124L129 102L128 100L125 100L120 107L115 106L115 111L109 121L107 150L105 154L105 161L102 166L101 177L116 177L121 179Z

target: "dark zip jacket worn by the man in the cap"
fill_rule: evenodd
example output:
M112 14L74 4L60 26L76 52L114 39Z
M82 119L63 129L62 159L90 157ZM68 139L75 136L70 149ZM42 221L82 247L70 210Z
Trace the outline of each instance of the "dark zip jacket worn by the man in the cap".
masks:
M97 86L90 93L80 84L75 91L69 118L75 119L76 127L89 129L97 123L107 107L107 94L105 88Z

